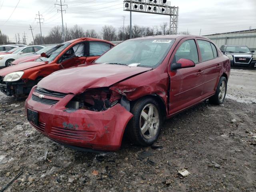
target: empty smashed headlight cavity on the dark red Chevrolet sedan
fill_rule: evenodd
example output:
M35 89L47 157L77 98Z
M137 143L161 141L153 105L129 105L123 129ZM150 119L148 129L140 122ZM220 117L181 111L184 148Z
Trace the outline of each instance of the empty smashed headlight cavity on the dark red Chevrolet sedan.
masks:
M74 98L68 102L66 108L104 111L117 104L121 97L120 94L108 88L91 89L74 96Z

